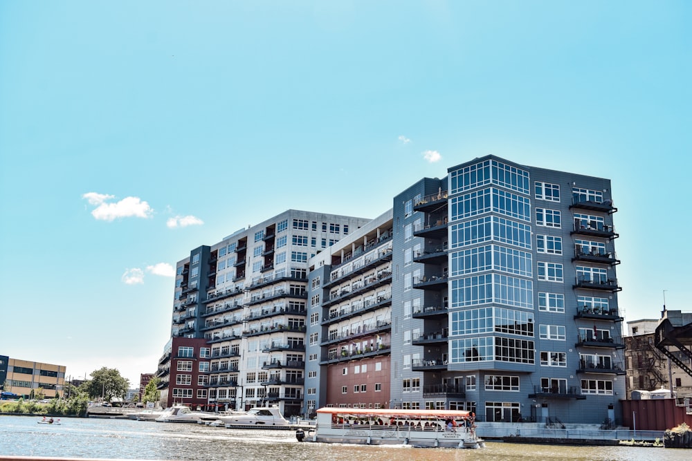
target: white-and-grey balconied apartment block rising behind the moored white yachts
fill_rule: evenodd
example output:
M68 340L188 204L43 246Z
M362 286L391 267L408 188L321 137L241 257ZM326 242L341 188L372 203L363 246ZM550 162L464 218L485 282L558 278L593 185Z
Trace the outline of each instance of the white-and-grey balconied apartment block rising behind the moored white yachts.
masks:
M203 339L210 357L190 390L176 392L205 395L208 406L304 413L308 259L369 221L288 210L179 261L171 334Z

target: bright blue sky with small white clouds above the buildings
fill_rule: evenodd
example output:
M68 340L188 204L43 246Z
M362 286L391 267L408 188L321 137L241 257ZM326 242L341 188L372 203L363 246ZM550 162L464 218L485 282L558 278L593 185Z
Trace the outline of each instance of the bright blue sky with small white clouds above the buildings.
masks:
M688 1L0 2L0 354L136 382L172 266L493 153L612 180L626 320L690 310ZM650 246L653 245L653 246Z

